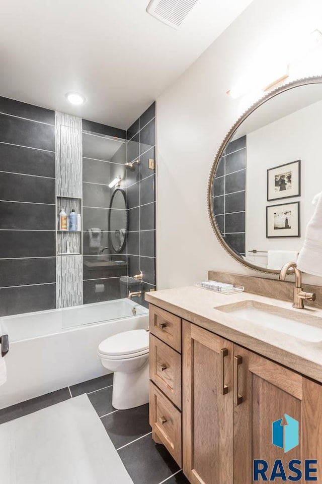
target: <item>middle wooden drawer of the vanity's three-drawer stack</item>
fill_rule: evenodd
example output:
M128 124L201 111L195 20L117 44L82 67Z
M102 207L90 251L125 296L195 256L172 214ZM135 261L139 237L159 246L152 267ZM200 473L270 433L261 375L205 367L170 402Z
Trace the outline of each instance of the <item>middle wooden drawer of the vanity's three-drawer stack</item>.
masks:
M150 379L181 409L181 354L150 333Z

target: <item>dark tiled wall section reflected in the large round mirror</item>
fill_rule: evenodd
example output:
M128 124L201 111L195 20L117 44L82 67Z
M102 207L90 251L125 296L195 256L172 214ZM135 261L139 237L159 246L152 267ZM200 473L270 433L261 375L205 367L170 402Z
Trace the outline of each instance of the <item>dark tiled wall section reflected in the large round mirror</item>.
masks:
M231 141L216 171L213 210L228 245L245 256L246 136Z

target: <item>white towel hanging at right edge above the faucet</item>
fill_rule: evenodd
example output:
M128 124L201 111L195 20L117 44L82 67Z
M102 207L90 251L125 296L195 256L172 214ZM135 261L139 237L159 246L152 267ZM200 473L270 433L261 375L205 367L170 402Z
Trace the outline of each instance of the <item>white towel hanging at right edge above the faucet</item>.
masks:
M307 274L322 276L322 192L315 195L312 204L315 211L306 227L297 267Z

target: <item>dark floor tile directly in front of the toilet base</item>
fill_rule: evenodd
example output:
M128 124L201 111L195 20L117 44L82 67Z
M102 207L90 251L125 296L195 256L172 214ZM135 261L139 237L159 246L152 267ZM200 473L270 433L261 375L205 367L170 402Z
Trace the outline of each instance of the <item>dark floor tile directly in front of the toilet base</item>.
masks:
M149 406L146 404L129 410L119 410L103 417L102 423L115 448L118 449L151 432Z

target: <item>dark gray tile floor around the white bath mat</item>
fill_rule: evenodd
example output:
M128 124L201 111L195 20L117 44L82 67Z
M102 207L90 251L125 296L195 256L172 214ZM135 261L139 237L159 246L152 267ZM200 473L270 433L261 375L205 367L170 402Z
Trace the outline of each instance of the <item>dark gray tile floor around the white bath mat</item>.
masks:
M134 484L189 484L166 448L152 441L148 404L115 410L112 388L113 375L79 383L0 410L0 423L87 393Z

